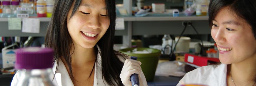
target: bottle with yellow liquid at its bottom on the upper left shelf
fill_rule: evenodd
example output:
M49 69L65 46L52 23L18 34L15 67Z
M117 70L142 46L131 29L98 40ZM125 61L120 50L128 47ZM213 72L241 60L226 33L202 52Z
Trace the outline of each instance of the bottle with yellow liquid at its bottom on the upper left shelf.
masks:
M51 17L54 6L54 0L46 0L46 16Z

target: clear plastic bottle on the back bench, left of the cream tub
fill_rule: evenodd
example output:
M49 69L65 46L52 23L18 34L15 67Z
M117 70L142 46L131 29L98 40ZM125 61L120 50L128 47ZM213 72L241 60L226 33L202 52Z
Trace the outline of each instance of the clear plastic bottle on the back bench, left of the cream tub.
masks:
M162 38L162 54L171 54L172 38L170 35L165 34Z

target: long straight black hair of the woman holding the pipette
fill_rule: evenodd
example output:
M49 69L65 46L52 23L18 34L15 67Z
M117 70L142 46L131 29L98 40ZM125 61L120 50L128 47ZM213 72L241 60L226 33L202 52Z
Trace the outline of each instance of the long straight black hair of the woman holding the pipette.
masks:
M71 75L71 79L75 80L71 67L71 55L74 50L70 50L72 46L74 46L72 42L72 38L69 35L67 29L67 14L69 10L72 8L72 3L74 3L74 7L72 10L71 17L77 12L77 9L80 6L81 0L55 0L54 9L52 13L51 21L49 22L49 26L46 33L45 38L45 47L54 49L55 56L54 60L57 63L56 71L58 69L59 58L64 57L65 62L69 67L69 72ZM119 78L122 67L124 65L121 62L117 55L122 55L122 53L114 51L114 33L115 33L115 24L116 24L116 7L115 0L105 0L108 18L110 19L110 25L107 29L104 36L97 42L99 49L97 49L97 45L94 46L96 56L98 50L101 50L99 53L102 57L102 78L107 82L107 84L114 86L122 86L122 81ZM70 18L71 18L70 17ZM125 59L125 58L124 58ZM96 57L97 60L97 57ZM97 62L97 61L96 61ZM56 72L55 72L56 73ZM92 74L92 71L91 71ZM90 75L91 76L91 75Z

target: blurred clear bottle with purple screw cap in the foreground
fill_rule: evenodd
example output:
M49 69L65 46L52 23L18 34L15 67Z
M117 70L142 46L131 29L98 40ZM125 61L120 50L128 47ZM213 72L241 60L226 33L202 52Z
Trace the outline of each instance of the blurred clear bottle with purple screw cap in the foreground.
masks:
M16 86L54 86L52 72L54 51L45 48L21 48L16 51L15 69L20 78Z

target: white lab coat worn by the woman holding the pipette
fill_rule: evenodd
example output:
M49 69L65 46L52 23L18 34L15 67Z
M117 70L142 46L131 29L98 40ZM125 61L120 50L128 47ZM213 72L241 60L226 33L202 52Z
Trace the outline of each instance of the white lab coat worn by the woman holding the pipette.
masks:
M99 51L100 52L100 51ZM97 58L97 64L95 63L95 68L94 68L94 85L93 86L109 86L106 81L104 79L102 79L102 69L101 69L101 56L98 52L98 58ZM123 59L123 57L118 56L118 58L124 62L125 59ZM53 72L49 75L50 80L52 80L54 73L56 71L56 61L54 62L54 66L52 68ZM147 86L147 81L146 78L143 74L143 72L141 71L141 79L143 81L140 81L140 83L143 83L143 85ZM17 71L17 73L14 75L14 78L11 82L11 86L16 86L17 84L17 80L19 80L20 78L20 72ZM105 84L104 84L104 82ZM55 74L54 80L52 81L52 83L55 86L74 86L74 84L72 83L71 78L69 77L69 73L66 69L66 67L64 66L63 62L59 59L59 68Z

